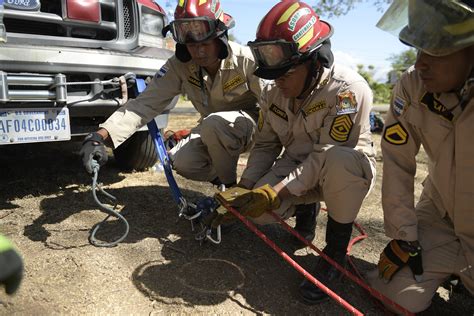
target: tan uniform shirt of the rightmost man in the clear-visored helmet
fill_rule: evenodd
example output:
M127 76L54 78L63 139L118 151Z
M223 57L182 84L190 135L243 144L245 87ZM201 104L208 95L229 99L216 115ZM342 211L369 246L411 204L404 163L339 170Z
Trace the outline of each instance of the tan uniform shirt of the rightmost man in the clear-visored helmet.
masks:
M382 139L382 202L387 236L408 241L421 237L414 207L414 177L415 156L423 145L429 169L423 193L436 206L433 212L449 217L446 223L452 223L456 236L432 232L431 239L436 240L425 240L422 246L435 247L459 238L473 266L474 99L466 100L463 111L459 104L455 93L428 93L414 68L402 76L394 88Z

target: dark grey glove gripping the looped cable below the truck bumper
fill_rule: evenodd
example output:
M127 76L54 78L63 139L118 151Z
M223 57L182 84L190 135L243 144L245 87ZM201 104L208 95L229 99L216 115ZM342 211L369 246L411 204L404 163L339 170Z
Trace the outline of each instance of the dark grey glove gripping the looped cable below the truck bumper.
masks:
M105 165L108 156L102 136L99 133L87 135L82 142L80 155L82 156L84 168L90 174L94 171L93 160L97 161L100 166Z

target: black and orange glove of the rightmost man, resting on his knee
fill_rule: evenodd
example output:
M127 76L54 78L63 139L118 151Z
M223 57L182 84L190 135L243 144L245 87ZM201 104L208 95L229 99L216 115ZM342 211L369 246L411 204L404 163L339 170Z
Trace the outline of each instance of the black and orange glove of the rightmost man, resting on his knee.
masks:
M392 240L380 254L377 265L379 277L389 282L392 277L405 265L413 272L417 282L423 280L423 262L421 259L421 246L418 241L407 242Z

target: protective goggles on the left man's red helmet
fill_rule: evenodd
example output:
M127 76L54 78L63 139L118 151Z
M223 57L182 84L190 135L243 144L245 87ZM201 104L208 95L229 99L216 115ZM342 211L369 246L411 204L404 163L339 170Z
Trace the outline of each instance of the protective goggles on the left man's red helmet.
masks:
M170 30L180 44L202 42L217 35L216 21L207 17L174 20Z

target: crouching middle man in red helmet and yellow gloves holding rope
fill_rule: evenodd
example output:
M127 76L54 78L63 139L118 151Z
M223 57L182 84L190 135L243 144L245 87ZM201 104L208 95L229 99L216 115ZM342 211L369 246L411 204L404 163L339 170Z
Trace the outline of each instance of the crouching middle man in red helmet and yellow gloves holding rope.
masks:
M239 186L216 197L258 224L274 221L268 210L286 219L295 205L298 210L325 201L324 252L344 264L352 224L375 172L372 92L356 72L333 65L332 33L303 2L280 2L260 22L256 41L249 43L255 74L275 84L264 89L255 147ZM321 259L315 276L327 283L339 272ZM307 281L300 293L309 304L328 298Z

